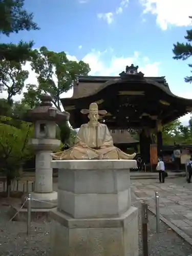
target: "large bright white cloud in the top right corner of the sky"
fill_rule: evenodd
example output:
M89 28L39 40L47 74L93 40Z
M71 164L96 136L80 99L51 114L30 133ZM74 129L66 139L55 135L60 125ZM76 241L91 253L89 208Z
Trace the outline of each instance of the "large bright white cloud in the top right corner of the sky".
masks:
M168 25L189 26L192 13L191 0L140 0L144 7L143 13L152 13L157 16L156 23L162 30Z

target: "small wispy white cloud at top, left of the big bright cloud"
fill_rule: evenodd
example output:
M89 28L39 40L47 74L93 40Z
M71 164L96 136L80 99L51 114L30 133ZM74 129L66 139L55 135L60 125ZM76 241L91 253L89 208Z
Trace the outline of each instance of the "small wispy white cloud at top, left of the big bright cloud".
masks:
M106 12L106 13L98 13L97 17L99 19L105 20L108 24L111 24L114 20L115 14L121 14L123 12L124 8L127 8L129 4L129 0L121 0L120 5L116 8L116 11L114 12Z

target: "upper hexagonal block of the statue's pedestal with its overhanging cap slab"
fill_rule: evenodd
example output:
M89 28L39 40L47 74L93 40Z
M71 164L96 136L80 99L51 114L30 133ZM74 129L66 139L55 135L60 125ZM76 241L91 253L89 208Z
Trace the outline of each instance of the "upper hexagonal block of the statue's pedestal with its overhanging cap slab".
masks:
M120 217L131 206L135 160L52 161L58 168L58 208L75 219Z

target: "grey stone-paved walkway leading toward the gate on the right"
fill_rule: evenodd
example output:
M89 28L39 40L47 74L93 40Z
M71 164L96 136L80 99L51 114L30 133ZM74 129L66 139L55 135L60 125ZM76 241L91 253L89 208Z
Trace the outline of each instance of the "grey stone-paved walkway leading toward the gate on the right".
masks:
M132 180L132 202L147 200L155 212L155 191L160 196L160 215L166 224L192 245L192 183L186 178L157 180Z

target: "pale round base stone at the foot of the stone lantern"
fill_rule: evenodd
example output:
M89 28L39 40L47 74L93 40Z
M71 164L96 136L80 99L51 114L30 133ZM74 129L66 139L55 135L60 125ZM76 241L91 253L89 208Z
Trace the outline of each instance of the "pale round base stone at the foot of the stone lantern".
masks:
M51 193L31 193L31 208L55 208L57 207L57 192L53 191ZM24 198L22 202L24 202ZM27 208L27 202L25 208Z

